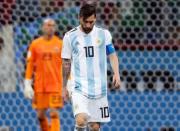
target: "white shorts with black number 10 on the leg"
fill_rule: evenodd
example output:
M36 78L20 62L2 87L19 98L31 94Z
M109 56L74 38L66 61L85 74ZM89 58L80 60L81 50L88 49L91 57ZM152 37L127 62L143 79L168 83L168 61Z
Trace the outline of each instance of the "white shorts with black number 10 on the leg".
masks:
M106 96L98 99L89 99L78 92L72 92L71 101L74 116L79 113L86 113L89 116L88 122L110 121L110 112Z

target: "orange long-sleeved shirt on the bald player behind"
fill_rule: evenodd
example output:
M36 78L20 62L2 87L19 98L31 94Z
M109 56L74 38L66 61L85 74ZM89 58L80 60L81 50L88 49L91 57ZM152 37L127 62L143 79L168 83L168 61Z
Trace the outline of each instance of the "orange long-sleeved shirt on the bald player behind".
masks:
M34 91L62 92L62 40L35 39L28 50L25 79L34 75Z

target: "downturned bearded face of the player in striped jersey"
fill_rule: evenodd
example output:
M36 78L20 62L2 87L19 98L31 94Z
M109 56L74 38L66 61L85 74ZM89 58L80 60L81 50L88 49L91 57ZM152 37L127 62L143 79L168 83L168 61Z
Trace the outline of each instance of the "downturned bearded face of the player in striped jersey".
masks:
M80 25L82 30L88 34L93 29L93 26L96 22L96 16L91 15L90 17L84 19L82 16L80 17Z

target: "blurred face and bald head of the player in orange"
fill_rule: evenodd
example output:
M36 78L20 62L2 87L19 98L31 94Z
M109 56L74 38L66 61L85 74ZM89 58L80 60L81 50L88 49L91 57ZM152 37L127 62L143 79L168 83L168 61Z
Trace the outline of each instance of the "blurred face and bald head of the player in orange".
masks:
M53 20L48 20L43 23L42 31L45 35L53 35L55 33L55 22Z

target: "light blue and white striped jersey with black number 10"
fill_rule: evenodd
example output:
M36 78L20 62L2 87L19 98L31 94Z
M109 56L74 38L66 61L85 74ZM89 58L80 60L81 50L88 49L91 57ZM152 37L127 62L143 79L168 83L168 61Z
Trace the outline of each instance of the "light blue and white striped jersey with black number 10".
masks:
M107 55L114 53L108 30L94 26L89 34L80 26L63 38L62 58L71 59L71 89L89 98L107 95Z

